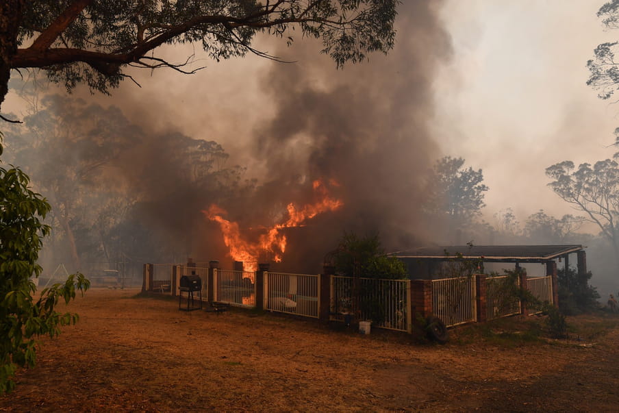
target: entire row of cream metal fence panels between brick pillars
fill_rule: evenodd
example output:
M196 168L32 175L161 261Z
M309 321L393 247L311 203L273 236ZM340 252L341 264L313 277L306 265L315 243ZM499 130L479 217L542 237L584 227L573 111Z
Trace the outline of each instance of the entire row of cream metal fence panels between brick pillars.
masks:
M244 308L257 306L256 273L213 268L209 285L209 268L174 264L152 265L151 291L173 294L179 291L183 275L198 275L202 281L202 299L207 300L212 290L213 301ZM173 275L173 268L177 273ZM318 318L320 314L320 275L264 272L261 307L272 312ZM477 321L477 276L452 277L432 280L432 314L447 327ZM176 281L176 285L173 285ZM496 276L485 279L486 317L488 320L521 314L522 308L516 288L507 283L511 277ZM516 279L516 283L520 279ZM326 287L326 286L325 286ZM552 277L527 278L527 290L541 303L553 302ZM407 279L329 277L329 311L331 319L347 316L357 321L372 320L373 327L412 331L411 281ZM356 309L356 310L355 310ZM538 314L542 306L527 305L529 314ZM326 311L326 309L325 309Z

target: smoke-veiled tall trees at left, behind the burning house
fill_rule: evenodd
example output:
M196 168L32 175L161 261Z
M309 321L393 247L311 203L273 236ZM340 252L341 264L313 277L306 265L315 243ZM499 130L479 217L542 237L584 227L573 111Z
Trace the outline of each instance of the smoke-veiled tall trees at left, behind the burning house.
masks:
M116 268L140 258L141 268L142 260L173 260L187 253L192 208L201 221L199 208L207 200L246 194L253 184L242 182L240 166L227 166L229 155L217 142L152 134L115 106L31 86L11 80L32 105L23 124L5 125L11 134L5 160L22 165L51 204L44 264L64 262L69 271L93 273L101 262ZM168 217L170 208L181 208L177 199L192 208Z

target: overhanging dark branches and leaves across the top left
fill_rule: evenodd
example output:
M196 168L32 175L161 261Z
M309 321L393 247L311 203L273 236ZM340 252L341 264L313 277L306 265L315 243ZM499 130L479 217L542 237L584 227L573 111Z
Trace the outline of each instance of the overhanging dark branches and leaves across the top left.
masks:
M399 0L5 0L0 3L0 105L10 69L45 68L71 90L108 92L127 66L192 73L192 56L168 62L162 45L199 43L214 60L256 53L257 33L319 38L323 53L358 62L393 46ZM188 67L186 69L186 67Z

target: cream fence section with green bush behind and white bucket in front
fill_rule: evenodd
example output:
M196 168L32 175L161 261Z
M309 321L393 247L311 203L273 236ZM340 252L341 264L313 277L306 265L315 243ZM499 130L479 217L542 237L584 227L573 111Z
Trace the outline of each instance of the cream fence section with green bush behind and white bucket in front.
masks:
M407 331L407 279L331 277L331 312L352 314L357 301L361 320L386 329ZM355 299L355 290L358 296Z

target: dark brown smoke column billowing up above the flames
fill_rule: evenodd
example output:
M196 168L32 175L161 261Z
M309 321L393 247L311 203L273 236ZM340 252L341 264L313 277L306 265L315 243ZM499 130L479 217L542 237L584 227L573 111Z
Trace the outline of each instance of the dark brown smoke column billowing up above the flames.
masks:
M277 112L254 140L270 181L261 199L285 202L288 188L323 178L339 182L336 193L345 203L333 218L304 229L288 260L295 250L324 254L344 230L378 231L388 249L422 242L419 205L427 171L440 156L428 128L432 80L451 50L435 7L401 6L396 46L387 56L335 71L318 57L319 45L303 42L280 51L297 63L275 64L264 75Z

